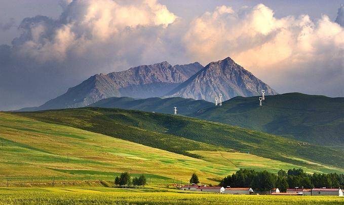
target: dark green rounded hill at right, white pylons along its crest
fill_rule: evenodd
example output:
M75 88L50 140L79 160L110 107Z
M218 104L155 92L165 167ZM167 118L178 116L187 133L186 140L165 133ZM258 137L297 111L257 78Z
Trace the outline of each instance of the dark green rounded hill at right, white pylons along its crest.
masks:
M190 116L237 125L319 145L344 146L344 98L287 93L235 97L222 107L202 109Z

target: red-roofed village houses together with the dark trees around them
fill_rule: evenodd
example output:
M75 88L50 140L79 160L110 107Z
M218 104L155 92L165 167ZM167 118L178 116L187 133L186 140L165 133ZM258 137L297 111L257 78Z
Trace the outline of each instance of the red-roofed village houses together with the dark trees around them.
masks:
M300 168L289 169L288 172L281 169L278 175L266 171L255 172L254 170L240 169L235 174L223 178L218 186L202 185L197 174L194 173L190 178L190 184L184 185L180 187L180 189L185 191L212 192L219 194L343 196L343 190L337 186L337 184L341 184L342 182L336 183L335 180L331 182L327 180L327 183L325 183L324 180L330 178L339 178L341 180L342 177L342 175L336 174L309 175ZM312 180L313 184L311 183ZM290 181L290 184L288 181ZM298 187L292 184L302 184L302 186ZM307 188L304 188L303 185ZM320 185L322 185L320 188L309 188ZM330 188L324 185L330 186ZM333 185L338 188L333 188Z

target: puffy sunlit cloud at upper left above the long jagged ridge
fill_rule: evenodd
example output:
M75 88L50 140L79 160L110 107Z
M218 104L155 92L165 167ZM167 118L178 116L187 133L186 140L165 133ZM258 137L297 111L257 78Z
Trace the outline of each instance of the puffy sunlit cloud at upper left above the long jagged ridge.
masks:
M14 40L21 56L39 62L65 60L67 55L83 56L98 45L128 42L147 28L162 29L177 18L154 0L120 4L112 0L62 1L64 11L58 20L44 16L26 18L20 24L22 35ZM132 43L137 38L133 39ZM123 51L124 46L118 52Z

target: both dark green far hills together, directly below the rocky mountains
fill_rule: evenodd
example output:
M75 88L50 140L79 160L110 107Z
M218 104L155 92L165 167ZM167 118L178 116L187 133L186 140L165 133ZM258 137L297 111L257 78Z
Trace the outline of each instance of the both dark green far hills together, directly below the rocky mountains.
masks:
M344 98L301 93L266 96L263 107L257 97L234 97L221 108L204 100L171 98L134 99L111 97L89 107L121 108L172 114L245 127L343 150Z

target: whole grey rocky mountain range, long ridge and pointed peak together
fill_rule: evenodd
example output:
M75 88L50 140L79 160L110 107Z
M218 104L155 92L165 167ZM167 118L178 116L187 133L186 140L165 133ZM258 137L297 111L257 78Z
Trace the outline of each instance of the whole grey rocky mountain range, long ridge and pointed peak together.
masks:
M230 57L203 67L199 62L172 66L168 62L132 67L127 71L97 74L44 105L20 111L85 107L109 97L184 97L214 101L235 96L277 94Z

